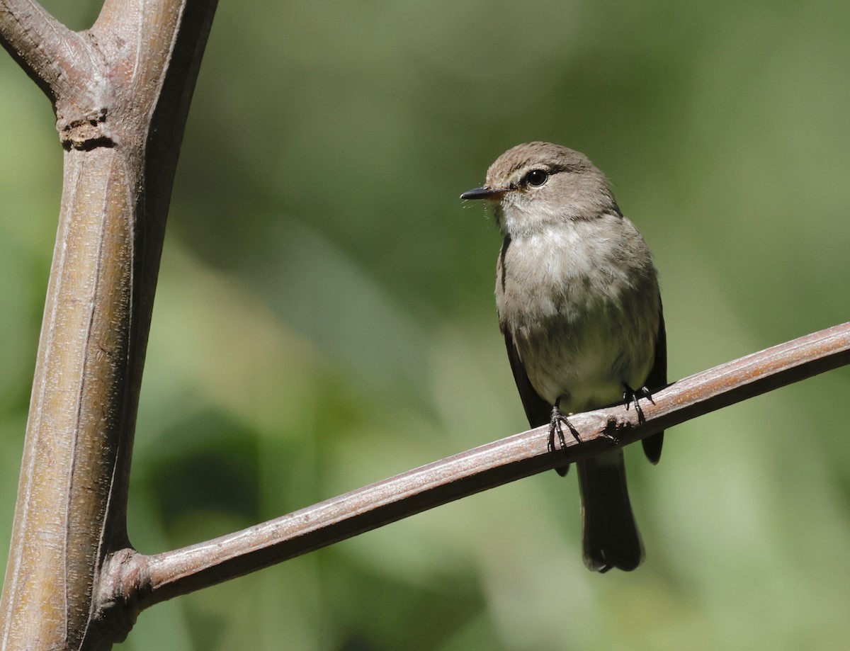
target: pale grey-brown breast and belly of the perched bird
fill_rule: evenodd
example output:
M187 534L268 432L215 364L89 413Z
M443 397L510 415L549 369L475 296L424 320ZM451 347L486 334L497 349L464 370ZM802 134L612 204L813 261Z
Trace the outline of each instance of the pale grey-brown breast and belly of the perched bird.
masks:
M660 295L655 270L627 265L594 223L506 242L496 307L536 392L584 411L642 388L655 361ZM583 229L583 230L576 230ZM604 235L604 233L602 234Z

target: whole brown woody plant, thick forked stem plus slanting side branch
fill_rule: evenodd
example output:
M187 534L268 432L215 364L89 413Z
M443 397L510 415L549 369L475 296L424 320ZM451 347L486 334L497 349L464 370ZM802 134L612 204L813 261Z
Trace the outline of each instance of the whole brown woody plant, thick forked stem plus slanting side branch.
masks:
M144 351L178 152L216 0L106 0L72 32L0 0L0 44L54 104L65 150L3 596L0 648L107 649L140 609L850 363L850 324L184 549L127 540Z

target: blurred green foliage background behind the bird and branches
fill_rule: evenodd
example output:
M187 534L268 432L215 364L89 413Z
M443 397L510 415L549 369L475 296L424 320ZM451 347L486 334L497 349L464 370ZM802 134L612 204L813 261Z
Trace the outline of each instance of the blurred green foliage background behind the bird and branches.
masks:
M75 29L99 3L47 3ZM850 5L222 2L150 335L142 552L526 428L500 237L457 196L546 139L612 179L660 269L676 379L847 320ZM61 150L0 57L0 561ZM833 371L628 450L647 547L581 563L543 473L144 612L122 649L843 649L850 435Z

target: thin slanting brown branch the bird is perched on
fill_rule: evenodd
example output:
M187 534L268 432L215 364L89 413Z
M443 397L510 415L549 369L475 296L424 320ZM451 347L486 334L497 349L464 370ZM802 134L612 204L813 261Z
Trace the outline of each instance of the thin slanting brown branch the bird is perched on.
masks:
M122 550L105 567L101 598L144 609L848 363L850 323L674 382L642 401L643 416L623 405L570 416L581 440L564 449L537 427L212 541L155 556Z

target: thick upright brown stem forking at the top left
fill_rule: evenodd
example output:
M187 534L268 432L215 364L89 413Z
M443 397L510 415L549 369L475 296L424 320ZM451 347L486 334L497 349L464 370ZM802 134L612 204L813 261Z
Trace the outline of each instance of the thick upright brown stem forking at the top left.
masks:
M54 102L59 231L0 603L0 647L109 648L132 604L99 603L128 546L144 349L185 117L215 0L107 0L88 31L0 0L0 42Z

